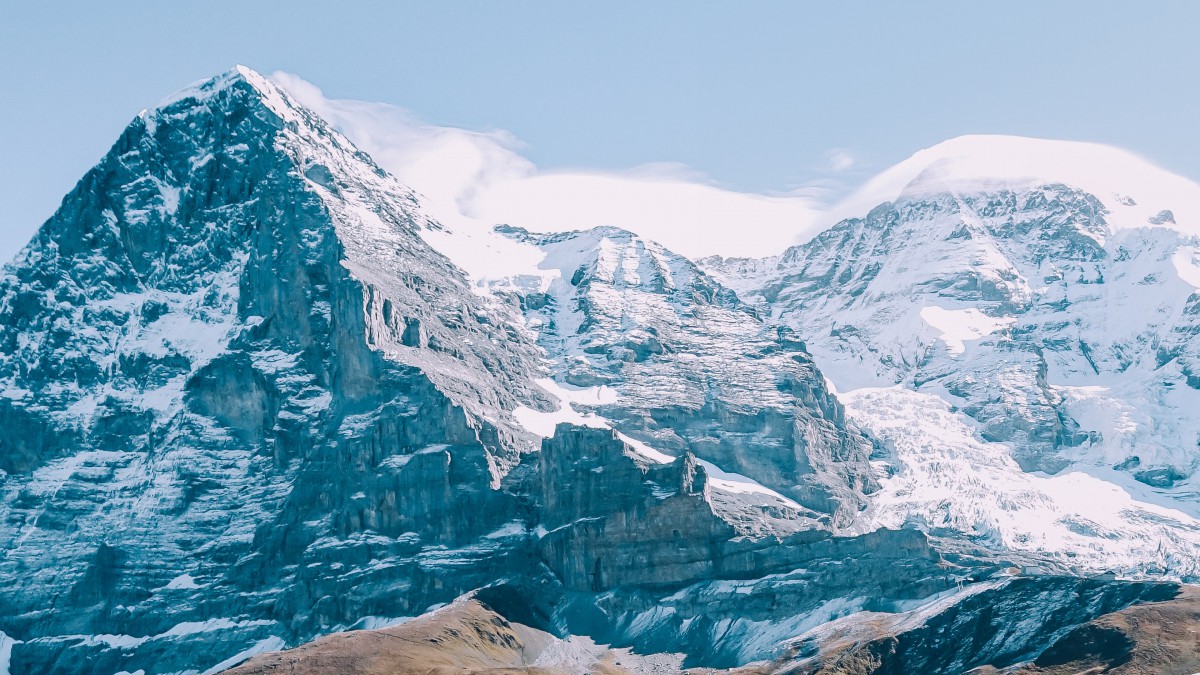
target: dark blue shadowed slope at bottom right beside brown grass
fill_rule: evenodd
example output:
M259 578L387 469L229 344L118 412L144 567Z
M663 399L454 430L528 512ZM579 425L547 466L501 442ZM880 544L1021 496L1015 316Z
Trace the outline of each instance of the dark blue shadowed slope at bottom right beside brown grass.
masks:
M912 613L864 614L818 628L797 640L792 671L1008 673L1033 662L1033 670L1016 671L1040 673L1042 665L1086 668L1086 659L1114 665L1128 658L1136 639L1110 628L1114 617L1159 615L1170 607L1172 615L1190 611L1188 622L1196 628L1194 602L1172 599L1180 592L1175 584L1064 577L992 581ZM1152 604L1129 607L1139 602Z

